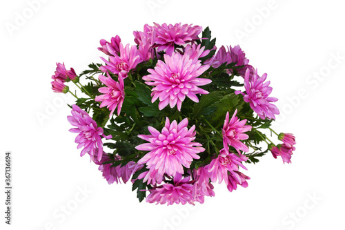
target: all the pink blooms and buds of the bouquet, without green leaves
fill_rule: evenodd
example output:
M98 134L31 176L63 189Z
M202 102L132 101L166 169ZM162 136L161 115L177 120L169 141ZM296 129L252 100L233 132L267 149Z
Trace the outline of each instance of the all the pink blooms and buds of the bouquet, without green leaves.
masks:
M212 83L211 79L201 76L213 68L232 64L233 68L226 70L226 73L244 77L245 90L235 91L235 94L243 95L244 102L261 119L275 119L279 110L273 102L277 98L269 97L272 87L269 86L269 81L266 82L266 73L260 77L257 70L248 64L249 60L239 46L221 46L213 57L202 63L201 58L206 57L210 50L197 43L201 39L198 37L201 30L201 26L191 24L154 23L154 26L146 24L144 31L133 32L136 45L122 44L118 35L112 37L110 42L101 39L101 47L98 49L108 57L101 57L104 65L99 68L103 74L98 79L103 86L98 88L100 95L94 97L99 102L99 107L108 108L109 117L114 115L115 110L117 116L121 115L126 98L126 81L132 78L132 73L139 64L159 59L155 67L148 68L148 74L141 77L147 86L152 86L151 102L158 99L159 110L169 105L170 108L176 106L177 111L181 111L186 97L195 103L199 102L198 96L209 93L199 86ZM52 89L55 92L67 93L68 86L65 82L75 81L78 77L73 68L66 70L64 64L57 64L52 79ZM135 172L141 170L135 180L148 184L150 194L146 198L147 202L195 204L204 203L205 196L215 195L212 183L217 181L219 184L224 181L229 191L236 190L239 185L248 186L247 180L250 178L240 172L239 168L247 170L243 164L248 160L245 153L249 152L250 146L246 133L255 128L247 124L247 119L239 119L237 112L237 109L228 111L224 117L221 149L217 148L217 153L209 153L210 161L207 164L197 166L193 166L193 161L198 160L206 149L197 142L199 133L196 126L190 125L188 128L188 118L170 122L166 117L165 124L161 123L164 124L161 131L148 126L150 135L138 135L145 142L135 146L144 156L117 166L112 164L121 161L121 156L103 151L102 138L111 139L112 135L104 135L103 128L97 126L97 122L86 111L72 105L72 116L68 116L68 121L75 126L70 132L78 133L75 142L78 144L77 148L83 148L81 156L88 153L109 184L119 183L121 180L126 183ZM213 134L216 135L216 131ZM219 132L218 134L220 135ZM281 133L278 139L283 144L270 144L268 148L273 157L280 156L284 162L290 163L295 151L295 137L290 133Z

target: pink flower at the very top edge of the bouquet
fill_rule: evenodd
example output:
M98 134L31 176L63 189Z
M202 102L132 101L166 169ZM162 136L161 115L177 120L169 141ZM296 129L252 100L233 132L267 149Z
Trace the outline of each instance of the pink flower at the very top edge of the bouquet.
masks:
M187 42L196 41L199 39L197 35L202 31L201 26L192 26L192 24L176 23L175 25L166 23L161 26L155 23L156 39L155 43L158 46L158 52L166 50L167 55L172 55L174 52L174 45L184 45Z

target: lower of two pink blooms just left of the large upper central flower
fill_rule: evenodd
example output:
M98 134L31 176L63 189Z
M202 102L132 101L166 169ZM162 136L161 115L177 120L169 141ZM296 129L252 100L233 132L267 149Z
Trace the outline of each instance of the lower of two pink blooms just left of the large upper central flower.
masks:
M122 104L124 104L125 91L124 91L124 79L119 75L119 82L115 82L110 75L105 77L99 75L99 80L107 87L99 88L99 93L103 93L95 98L96 102L102 102L101 108L107 106L111 111L109 117L114 113L117 108L117 115L120 115Z

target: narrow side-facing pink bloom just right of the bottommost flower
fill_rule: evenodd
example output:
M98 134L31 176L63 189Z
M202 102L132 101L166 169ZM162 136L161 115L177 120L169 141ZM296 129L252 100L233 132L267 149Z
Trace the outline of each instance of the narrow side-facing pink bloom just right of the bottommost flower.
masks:
M193 175L195 182L193 184L193 198L204 203L204 196L215 196L215 191L213 191L213 184L210 182L210 173L205 167L199 167L199 169L193 170Z

